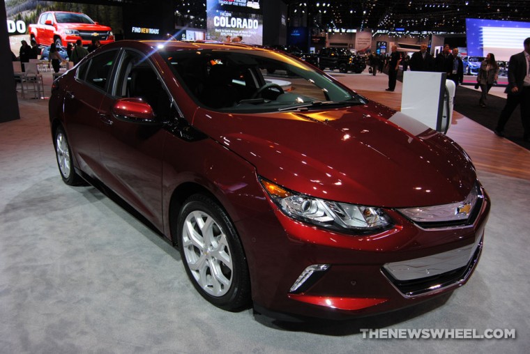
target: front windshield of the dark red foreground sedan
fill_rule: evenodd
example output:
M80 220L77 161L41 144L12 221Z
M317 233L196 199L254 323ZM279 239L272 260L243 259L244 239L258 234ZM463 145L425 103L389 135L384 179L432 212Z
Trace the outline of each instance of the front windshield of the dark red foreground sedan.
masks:
M290 56L255 49L160 52L200 105L229 112L296 111L365 100Z

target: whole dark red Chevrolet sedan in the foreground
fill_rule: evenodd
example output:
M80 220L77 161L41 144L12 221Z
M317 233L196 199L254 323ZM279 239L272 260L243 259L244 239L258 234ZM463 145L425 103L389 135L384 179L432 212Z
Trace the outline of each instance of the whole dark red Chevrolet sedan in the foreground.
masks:
M54 82L50 127L64 182L135 208L222 309L390 311L480 257L490 200L462 148L289 54L111 43Z

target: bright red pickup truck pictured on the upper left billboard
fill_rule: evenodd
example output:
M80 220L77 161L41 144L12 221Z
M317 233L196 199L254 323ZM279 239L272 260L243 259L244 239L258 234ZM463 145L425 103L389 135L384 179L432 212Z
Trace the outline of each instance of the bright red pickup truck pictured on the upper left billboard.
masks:
M41 13L37 24L29 25L29 36L38 45L55 43L61 47L80 39L83 45L99 40L102 45L114 42L114 34L109 26L93 22L84 13L48 11Z

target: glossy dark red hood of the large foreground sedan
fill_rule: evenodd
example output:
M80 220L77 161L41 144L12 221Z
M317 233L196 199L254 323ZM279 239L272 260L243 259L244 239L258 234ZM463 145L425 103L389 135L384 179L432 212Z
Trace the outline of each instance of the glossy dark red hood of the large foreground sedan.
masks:
M267 114L198 109L192 124L252 163L259 176L322 199L429 206L462 201L476 183L454 141L374 102Z

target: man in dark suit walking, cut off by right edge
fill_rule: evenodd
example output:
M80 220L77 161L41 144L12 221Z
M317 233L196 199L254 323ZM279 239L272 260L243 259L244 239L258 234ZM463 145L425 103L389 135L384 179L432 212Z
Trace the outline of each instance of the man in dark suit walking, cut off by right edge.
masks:
M520 105L521 120L524 128L523 140L530 139L530 37L524 40L524 51L510 56L508 63L508 86L506 87L506 105L501 111L495 134L503 137L506 122Z

